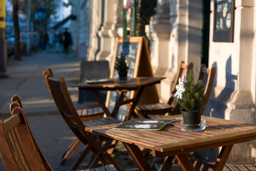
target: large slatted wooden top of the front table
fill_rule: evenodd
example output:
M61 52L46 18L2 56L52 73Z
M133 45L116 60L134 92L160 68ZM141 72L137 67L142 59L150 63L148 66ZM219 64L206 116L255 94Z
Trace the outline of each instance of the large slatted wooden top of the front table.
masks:
M178 155L213 147L233 145L256 139L256 125L202 116L206 128L200 132L184 132L180 129L181 115L163 130L116 130L116 125L88 127L86 131L153 150L155 156ZM162 118L161 118L162 119Z

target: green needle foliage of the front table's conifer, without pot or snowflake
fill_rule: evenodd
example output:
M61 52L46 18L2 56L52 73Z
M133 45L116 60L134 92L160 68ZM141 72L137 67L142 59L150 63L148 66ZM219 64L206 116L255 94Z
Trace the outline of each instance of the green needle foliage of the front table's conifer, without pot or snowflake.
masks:
M205 107L206 97L203 81L194 81L194 72L190 69L187 80L183 83L185 90L182 98L178 98L178 103L187 112L196 112Z

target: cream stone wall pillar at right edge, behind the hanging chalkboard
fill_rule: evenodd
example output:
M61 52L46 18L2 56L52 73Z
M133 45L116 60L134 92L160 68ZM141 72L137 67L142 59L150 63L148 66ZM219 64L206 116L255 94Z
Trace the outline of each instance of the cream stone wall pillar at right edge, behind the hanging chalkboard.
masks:
M213 2L211 10L214 11ZM213 117L255 123L254 1L235 1L234 10L233 43L213 42L214 13L210 16L209 66L215 66L217 73L208 110ZM235 145L229 160L249 161L249 144Z

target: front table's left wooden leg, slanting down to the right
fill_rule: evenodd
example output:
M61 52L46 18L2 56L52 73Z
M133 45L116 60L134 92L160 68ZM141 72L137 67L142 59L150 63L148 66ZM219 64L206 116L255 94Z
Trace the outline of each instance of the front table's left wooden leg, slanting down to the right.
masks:
M133 158L135 159L141 170L153 171L153 168L150 167L148 161L145 159L145 156L140 151L140 148L137 145L128 144L126 142L123 142L123 144L126 145L126 148L130 151L131 155L133 155Z

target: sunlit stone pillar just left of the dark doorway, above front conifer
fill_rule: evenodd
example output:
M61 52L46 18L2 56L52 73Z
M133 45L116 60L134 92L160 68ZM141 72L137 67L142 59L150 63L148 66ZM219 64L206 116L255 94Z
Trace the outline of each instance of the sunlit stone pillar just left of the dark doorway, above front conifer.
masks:
M194 63L195 78L200 71L202 1L170 1L170 68L178 71L180 61Z

